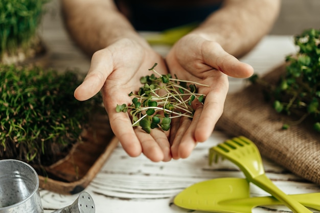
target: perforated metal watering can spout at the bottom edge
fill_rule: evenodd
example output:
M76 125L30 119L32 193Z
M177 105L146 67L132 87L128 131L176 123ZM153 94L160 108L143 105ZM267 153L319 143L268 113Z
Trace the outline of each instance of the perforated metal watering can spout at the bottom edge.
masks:
M95 211L95 203L92 197L88 193L82 192L73 204L52 213L95 213Z

